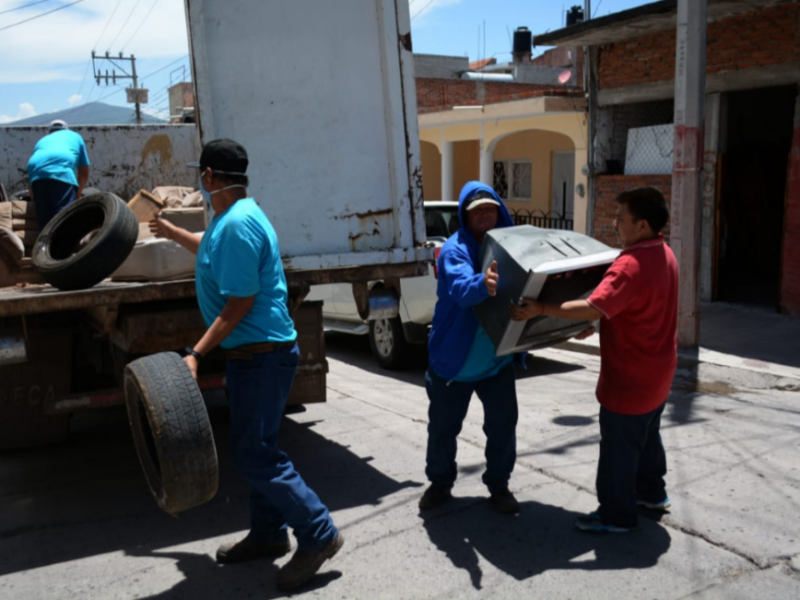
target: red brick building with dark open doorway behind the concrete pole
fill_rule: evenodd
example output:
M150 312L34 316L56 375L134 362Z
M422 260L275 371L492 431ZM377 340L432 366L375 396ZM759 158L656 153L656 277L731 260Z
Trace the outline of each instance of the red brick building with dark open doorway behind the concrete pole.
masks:
M593 235L614 197L669 198L676 0L536 36L588 46ZM701 295L800 316L800 5L708 0Z

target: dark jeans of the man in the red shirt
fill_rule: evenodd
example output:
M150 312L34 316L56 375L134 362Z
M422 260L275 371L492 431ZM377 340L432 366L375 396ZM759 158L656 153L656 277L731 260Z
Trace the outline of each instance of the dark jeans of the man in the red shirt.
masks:
M609 525L635 527L636 499L666 499L667 455L661 443L662 404L644 415L623 415L600 407L600 462L597 509Z

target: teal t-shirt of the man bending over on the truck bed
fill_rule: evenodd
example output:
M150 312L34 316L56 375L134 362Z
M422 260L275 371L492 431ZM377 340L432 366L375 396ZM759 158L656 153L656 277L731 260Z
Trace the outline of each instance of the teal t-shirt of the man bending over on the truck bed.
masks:
M89 166L89 155L83 138L69 129L48 133L33 149L28 160L28 180L57 179L78 185L75 170Z

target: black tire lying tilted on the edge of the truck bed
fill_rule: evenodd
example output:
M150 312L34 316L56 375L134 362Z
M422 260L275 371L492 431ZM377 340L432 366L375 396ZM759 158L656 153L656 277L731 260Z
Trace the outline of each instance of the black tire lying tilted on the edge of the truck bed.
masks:
M80 248L87 234L98 231ZM84 196L58 213L33 246L33 264L60 290L90 288L125 262L139 236L134 212L118 196Z

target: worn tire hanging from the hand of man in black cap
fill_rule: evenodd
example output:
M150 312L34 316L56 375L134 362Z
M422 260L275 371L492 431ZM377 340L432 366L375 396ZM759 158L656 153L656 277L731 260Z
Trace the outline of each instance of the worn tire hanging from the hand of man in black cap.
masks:
M211 500L219 463L200 388L180 356L161 352L125 368L125 404L145 479L170 515Z

